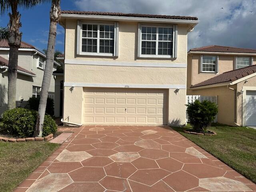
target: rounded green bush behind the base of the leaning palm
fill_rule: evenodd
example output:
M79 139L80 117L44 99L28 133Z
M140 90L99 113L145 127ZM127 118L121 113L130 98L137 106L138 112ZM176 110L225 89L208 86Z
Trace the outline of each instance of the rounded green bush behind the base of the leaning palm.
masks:
M3 113L2 122L4 128L14 135L20 137L33 136L34 128L36 125L36 116L38 112L25 108L14 108ZM44 116L44 126L42 136L57 131L57 125L52 117L48 114Z

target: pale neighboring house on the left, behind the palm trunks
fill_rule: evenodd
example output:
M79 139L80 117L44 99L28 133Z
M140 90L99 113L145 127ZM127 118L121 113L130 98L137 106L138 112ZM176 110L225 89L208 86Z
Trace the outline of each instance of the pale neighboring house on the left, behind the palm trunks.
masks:
M8 60L10 47L6 40L0 41L0 116L7 110ZM44 76L46 55L34 46L21 42L18 55L16 83L16 106L24 107L30 97L39 97ZM54 61L54 68L60 66ZM52 77L49 94L54 99L54 77Z

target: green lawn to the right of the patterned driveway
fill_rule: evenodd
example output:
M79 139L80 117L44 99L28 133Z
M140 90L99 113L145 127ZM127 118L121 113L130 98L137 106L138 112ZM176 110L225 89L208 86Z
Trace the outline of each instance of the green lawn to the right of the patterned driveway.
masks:
M214 124L209 129L217 135L204 136L184 133L183 136L256 183L256 130L246 127L230 127Z

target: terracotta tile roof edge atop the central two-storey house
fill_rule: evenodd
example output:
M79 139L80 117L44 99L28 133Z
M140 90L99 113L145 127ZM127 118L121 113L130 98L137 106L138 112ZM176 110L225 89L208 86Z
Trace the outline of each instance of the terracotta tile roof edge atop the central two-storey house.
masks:
M141 17L141 18L158 18L158 19L198 20L197 17L188 17L188 16L149 15L149 14L135 14L135 13L91 12L91 11L72 11L72 10L62 10L61 14L84 14L84 15Z

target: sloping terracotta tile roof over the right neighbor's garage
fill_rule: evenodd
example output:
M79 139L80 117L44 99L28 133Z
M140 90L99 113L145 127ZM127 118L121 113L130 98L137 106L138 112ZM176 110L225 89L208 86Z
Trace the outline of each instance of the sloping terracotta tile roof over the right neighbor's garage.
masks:
M210 78L208 80L195 84L190 88L219 84L219 83L226 83L226 82L233 82L235 80L246 77L255 72L256 72L256 65L252 65L252 66L244 67L241 69L224 72L218 76L215 76L213 78Z

